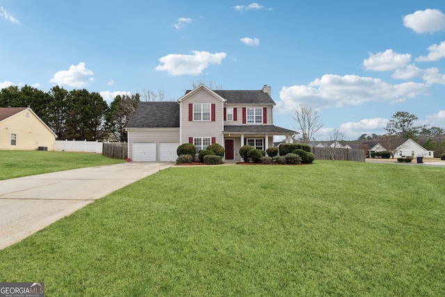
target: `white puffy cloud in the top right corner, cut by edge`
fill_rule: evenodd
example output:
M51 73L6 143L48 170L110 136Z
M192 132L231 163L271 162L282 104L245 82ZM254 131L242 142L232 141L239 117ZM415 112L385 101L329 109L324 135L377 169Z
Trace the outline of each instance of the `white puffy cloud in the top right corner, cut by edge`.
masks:
M403 17L403 26L416 33L432 33L445 29L445 15L437 9L417 10Z

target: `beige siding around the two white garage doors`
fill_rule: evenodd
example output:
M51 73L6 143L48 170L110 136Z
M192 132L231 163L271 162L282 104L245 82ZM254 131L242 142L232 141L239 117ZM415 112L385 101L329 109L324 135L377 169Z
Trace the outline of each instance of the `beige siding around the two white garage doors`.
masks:
M156 143L156 161L159 161L159 143L179 142L179 128L129 128L128 157L133 159L133 143Z

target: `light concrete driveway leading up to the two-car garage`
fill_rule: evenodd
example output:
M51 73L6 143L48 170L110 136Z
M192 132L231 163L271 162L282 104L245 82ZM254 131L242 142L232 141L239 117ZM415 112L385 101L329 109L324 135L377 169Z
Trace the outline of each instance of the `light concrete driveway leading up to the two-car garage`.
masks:
M0 249L174 163L120 163L0 181Z

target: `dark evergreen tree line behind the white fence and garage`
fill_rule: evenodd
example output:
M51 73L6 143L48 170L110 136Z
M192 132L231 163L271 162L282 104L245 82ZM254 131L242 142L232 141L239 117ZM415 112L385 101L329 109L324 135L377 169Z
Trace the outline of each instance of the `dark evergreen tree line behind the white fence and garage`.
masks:
M32 86L9 86L0 90L0 107L30 107L59 140L127 141L124 127L143 97L145 101L162 101L163 91L156 94L143 90L142 95L118 95L108 106L99 93L86 89L65 90L54 86L45 93Z

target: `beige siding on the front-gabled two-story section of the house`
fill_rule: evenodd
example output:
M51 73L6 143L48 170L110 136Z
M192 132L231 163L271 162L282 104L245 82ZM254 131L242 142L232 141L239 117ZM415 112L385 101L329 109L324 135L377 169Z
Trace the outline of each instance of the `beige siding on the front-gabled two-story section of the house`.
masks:
M215 121L189 121L188 104L215 104ZM188 143L189 137L216 137L216 143L223 143L224 107L220 99L206 90L199 90L181 102L181 143Z

